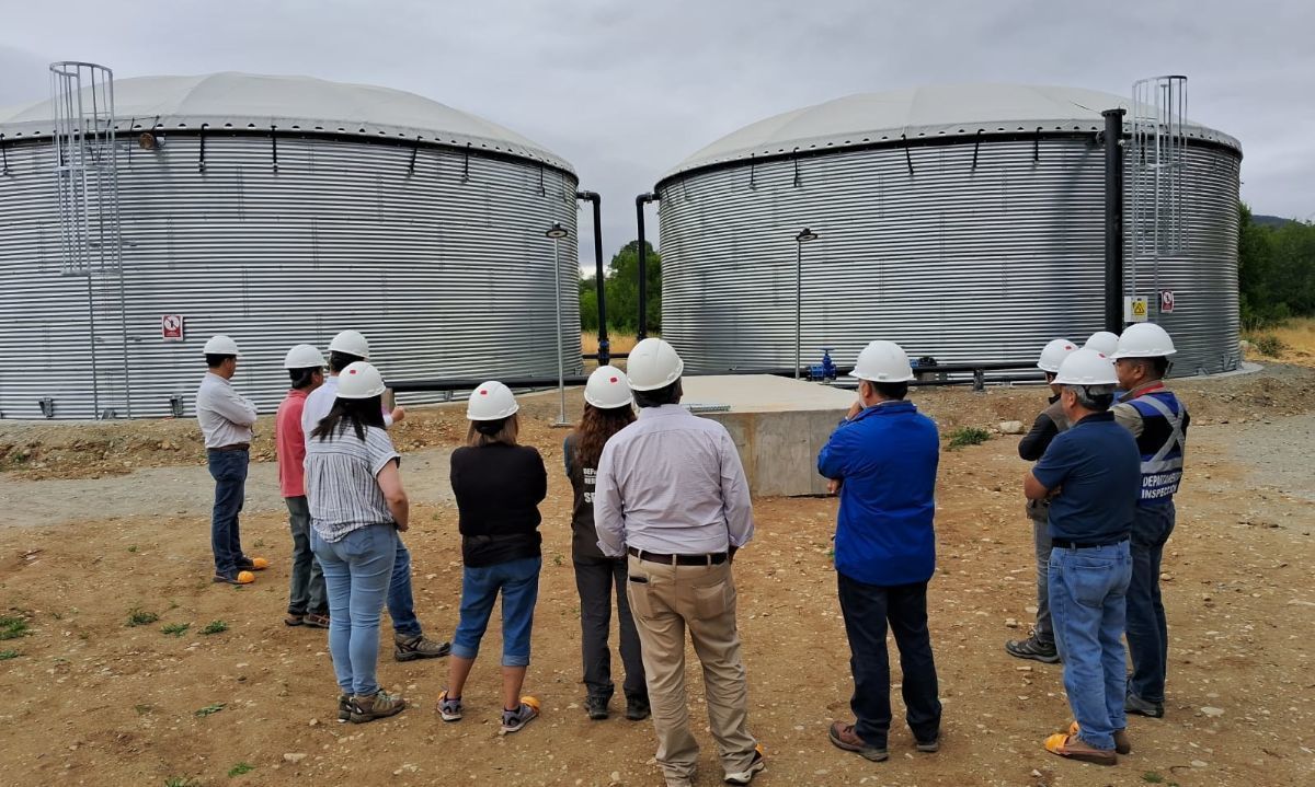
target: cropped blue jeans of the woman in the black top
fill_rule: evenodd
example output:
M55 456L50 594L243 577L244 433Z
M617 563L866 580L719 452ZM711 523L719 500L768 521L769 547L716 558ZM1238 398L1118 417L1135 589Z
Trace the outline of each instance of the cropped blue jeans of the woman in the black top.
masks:
M452 656L475 658L489 625L493 602L502 594L502 666L530 663L530 629L539 599L542 557L509 560L462 572L462 620L452 635Z

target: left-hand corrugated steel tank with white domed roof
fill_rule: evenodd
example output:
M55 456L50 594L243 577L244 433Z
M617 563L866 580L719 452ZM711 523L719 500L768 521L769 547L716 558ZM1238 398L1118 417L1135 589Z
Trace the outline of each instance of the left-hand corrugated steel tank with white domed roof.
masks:
M220 74L116 93L124 297L117 271L91 277L95 331L88 279L64 275L49 105L0 110L4 418L41 418L43 398L55 418L92 418L97 399L124 416L129 393L133 416L168 415L175 395L191 414L213 334L241 346L234 385L262 413L287 390L288 348L343 328L389 380L555 378L552 222L569 231L559 330L580 372L577 180L551 152L384 88ZM143 150L143 131L163 145ZM184 342L162 339L170 314Z

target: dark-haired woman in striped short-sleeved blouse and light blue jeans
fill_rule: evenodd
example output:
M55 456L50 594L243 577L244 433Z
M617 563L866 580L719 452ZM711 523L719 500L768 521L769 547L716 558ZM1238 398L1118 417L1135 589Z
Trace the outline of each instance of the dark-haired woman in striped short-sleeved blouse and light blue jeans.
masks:
M310 547L329 593L329 650L342 694L338 719L373 721L406 700L377 682L379 619L410 510L401 456L384 430L384 380L356 361L342 371L333 409L306 441Z

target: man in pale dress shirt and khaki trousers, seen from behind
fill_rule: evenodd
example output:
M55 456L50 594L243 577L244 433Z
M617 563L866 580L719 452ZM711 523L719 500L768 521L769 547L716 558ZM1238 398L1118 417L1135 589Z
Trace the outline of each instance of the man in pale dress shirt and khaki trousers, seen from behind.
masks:
M661 339L630 351L639 419L602 449L593 519L602 553L630 556L627 595L667 784L692 784L698 763L685 704L686 628L704 666L725 780L748 784L764 759L748 732L731 561L753 537L753 511L726 427L680 406L684 368Z

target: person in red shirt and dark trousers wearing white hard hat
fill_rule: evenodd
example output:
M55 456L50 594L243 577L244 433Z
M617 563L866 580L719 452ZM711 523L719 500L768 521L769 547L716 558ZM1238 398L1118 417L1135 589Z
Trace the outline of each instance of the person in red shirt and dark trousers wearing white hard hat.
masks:
M288 506L292 531L292 577L288 582L287 625L329 628L325 575L310 548L310 503L306 501L306 434L301 414L306 397L325 381L325 356L310 344L297 344L283 359L292 388L274 418L279 457L279 490Z

